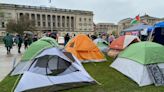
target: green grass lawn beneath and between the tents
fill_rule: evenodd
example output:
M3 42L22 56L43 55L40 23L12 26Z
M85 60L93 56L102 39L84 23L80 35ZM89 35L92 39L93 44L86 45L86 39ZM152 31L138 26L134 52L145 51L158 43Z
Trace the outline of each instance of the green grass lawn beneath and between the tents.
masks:
M164 92L164 87L154 85L139 87L128 77L109 67L110 62L83 64L89 74L101 85L95 84L62 92ZM10 92L16 77L6 77L0 82L0 92Z

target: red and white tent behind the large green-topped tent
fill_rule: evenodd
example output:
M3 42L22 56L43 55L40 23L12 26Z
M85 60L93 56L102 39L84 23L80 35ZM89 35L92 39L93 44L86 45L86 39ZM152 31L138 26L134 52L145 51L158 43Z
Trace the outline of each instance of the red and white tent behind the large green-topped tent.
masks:
M124 50L130 44L139 41L140 39L137 36L133 36L133 35L120 36L119 38L115 39L111 43L108 55L112 57L116 57L120 51Z

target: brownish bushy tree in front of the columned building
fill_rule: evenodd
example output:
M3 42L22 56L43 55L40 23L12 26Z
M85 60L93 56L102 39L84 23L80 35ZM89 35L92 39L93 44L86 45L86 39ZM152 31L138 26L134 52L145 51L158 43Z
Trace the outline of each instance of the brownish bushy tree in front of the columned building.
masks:
M35 31L35 21L30 20L27 16L21 16L20 19L10 20L7 23L6 31L11 33L23 34L24 31Z

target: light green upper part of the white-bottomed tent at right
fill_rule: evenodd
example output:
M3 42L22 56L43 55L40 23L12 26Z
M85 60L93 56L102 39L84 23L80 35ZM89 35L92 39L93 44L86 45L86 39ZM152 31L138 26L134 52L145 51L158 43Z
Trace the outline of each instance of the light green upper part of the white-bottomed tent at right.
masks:
M139 42L130 45L119 54L141 64L164 63L164 46L153 42Z

